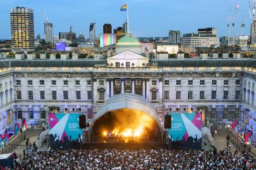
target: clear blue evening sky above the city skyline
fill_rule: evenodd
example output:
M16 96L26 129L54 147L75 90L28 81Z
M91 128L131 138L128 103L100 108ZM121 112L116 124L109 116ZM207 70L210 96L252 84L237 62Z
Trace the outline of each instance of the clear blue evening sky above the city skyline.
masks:
M103 32L104 23L112 29L121 27L126 12L120 7L129 4L130 32L137 37L166 37L169 30L181 34L197 32L198 28L217 28L217 35L228 35L228 16L235 14L236 35L241 34L240 23L245 20L244 34L250 34L250 0L0 0L0 39L10 39L10 9L16 6L33 9L35 36L43 37L44 13L54 24L54 35L69 32L69 18L73 31L89 37L89 25L96 22L96 34ZM232 11L229 7L232 5ZM232 36L232 27L231 27Z

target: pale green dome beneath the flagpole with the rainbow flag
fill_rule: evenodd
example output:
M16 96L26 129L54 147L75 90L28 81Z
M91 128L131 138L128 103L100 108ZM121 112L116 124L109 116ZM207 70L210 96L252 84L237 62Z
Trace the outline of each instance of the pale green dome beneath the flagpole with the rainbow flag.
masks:
M121 37L121 39L118 40L118 43L116 43L117 47L140 47L141 43L137 39L137 37L133 35L125 35Z

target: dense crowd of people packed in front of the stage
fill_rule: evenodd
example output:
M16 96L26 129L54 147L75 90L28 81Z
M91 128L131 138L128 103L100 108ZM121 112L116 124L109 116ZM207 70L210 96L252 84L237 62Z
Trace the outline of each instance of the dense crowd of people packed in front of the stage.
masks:
M15 169L256 169L256 158L226 150L49 150L16 158Z

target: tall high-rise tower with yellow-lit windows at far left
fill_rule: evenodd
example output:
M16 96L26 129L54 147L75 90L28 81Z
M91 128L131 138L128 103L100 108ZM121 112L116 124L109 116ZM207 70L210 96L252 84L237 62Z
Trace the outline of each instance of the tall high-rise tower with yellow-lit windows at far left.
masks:
M35 49L34 14L27 7L10 10L12 47L32 51Z

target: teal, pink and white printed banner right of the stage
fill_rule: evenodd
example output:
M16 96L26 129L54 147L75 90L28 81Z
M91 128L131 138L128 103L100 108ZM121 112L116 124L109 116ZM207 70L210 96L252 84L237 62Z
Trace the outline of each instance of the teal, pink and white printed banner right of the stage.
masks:
M174 149L202 149L202 114L171 113L169 146Z

